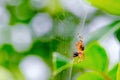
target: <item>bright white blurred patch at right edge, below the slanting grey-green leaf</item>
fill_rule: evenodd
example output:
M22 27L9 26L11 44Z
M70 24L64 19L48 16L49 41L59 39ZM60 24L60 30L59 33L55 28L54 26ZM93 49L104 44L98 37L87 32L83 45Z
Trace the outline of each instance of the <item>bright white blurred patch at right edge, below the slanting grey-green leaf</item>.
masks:
M119 62L119 43L113 35L105 40L100 41L100 43L103 45L108 53L108 57L110 60L109 68L112 68L115 64Z

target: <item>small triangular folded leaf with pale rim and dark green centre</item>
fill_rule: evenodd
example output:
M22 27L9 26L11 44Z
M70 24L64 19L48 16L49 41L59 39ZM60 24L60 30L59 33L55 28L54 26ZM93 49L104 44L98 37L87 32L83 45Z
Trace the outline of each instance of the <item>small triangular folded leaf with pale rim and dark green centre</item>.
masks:
M54 67L54 73L53 75L58 74L62 70L66 69L70 66L70 59L59 54L58 52L53 53L53 67Z

